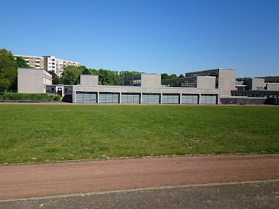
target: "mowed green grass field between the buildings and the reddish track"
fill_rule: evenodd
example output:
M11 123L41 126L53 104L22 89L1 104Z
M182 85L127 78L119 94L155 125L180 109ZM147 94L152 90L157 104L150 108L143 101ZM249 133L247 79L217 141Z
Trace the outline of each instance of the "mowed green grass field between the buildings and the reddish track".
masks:
M278 116L278 107L264 106L5 104L0 164L278 153Z

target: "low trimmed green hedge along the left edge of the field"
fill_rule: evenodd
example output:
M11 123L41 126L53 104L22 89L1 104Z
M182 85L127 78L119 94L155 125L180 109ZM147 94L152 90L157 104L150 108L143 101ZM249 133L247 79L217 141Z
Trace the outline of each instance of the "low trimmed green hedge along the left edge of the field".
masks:
M29 101L46 101L49 96L47 93L12 93L7 92L3 95L3 100L29 100Z

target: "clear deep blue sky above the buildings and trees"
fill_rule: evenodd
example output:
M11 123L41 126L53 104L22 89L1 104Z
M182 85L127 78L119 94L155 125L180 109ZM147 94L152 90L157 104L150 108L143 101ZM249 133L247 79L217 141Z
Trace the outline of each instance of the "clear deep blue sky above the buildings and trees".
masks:
M1 1L0 48L87 68L279 75L279 1Z

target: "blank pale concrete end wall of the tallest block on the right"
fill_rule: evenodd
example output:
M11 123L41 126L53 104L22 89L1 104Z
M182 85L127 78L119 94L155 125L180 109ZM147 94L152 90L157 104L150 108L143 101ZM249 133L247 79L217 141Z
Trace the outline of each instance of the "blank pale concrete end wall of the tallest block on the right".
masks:
M220 95L231 95L231 91L236 86L236 70L235 69L219 69L218 88Z

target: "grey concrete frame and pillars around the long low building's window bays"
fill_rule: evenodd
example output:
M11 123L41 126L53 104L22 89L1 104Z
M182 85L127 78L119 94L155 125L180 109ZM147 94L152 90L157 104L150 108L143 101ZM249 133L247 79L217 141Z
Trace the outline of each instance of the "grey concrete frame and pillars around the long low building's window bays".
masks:
M202 95L216 95L216 104L220 104L220 89L205 89L205 88L167 88L167 87L142 87L142 86L90 86L90 85L74 85L73 86L73 102L77 102L77 92L85 93L97 93L97 103L99 103L100 93L119 93L119 103L121 103L122 93L139 93L140 104L142 104L142 95L147 94L159 94L160 104L162 102L163 94L175 94L179 96L179 104L181 104L181 96L187 95L198 95L197 104L202 104Z

